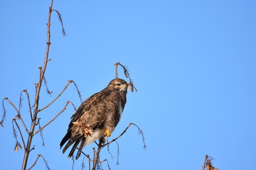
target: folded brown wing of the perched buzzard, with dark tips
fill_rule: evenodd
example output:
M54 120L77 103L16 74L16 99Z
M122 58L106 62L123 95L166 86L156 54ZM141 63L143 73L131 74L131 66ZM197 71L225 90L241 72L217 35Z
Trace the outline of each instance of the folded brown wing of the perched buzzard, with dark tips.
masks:
M107 98L107 94L102 91L90 96L81 104L78 111L72 115L68 132L60 142L60 147L62 147L69 140L63 149L63 153L73 142L78 145L78 141L82 140L82 137L92 135L93 130L98 127L101 128L102 123L107 119L105 98Z

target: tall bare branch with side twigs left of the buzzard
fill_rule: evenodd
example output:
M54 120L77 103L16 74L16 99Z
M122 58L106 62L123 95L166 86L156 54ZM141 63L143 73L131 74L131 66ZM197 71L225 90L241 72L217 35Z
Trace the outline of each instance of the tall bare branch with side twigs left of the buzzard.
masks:
M28 163L28 157L29 157L29 154L30 152L35 149L35 146L33 146L31 148L31 143L32 143L32 140L33 140L33 135L36 135L36 133L38 132L41 132L41 136L43 135L42 134L42 130L43 128L46 128L47 125L49 125L51 122L53 122L53 120L55 120L55 118L58 117L58 115L60 115L60 113L63 113L63 111L65 111L65 108L68 106L68 103L71 103L70 101L67 101L67 103L65 104L65 107L63 108L62 111L60 111L60 113L58 113L58 115L56 115L52 120L50 120L50 122L46 123L46 125L44 125L42 128L41 128L41 125L40 125L40 121L39 119L40 118L37 118L38 116L38 112L39 111L43 111L43 109L47 108L48 106L50 106L51 103L53 103L62 93L63 91L65 91L65 89L60 93L60 95L58 97L56 97L50 104L48 104L45 108L41 109L41 110L38 110L38 106L39 106L39 96L40 96L40 92L41 92L41 86L42 84L44 83L46 85L46 91L48 92L48 94L51 94L52 92L49 91L48 89L48 85L47 85L47 81L46 81L46 77L45 77L45 73L46 73L46 67L47 67L47 64L50 60L48 60L48 55L49 55L49 50L50 50L50 19L51 19L51 14L52 14L52 11L55 11L58 13L58 18L60 20L60 23L61 23L61 26L62 26L62 33L63 33L63 36L65 36L65 30L64 30L64 27L63 27L63 20L61 18L61 15L58 11L56 11L55 9L53 9L53 0L50 1L50 6L49 6L49 11L48 11L48 21L46 23L46 28L47 28L47 41L46 41L46 54L45 54L45 57L44 57L44 60L43 60L43 67L39 67L39 80L38 80L38 83L35 84L36 85L36 95L35 95L35 101L33 103L33 106L31 107L31 101L30 101L30 98L29 98L29 94L27 92L27 90L23 90L21 91L21 94L20 94L20 100L19 100L19 105L18 105L18 109L16 108L16 106L14 105L14 103L12 103L9 98L4 98L3 101L2 101L2 105L3 105L3 108L4 108L4 113L2 115L2 120L0 121L0 125L4 128L4 120L6 119L6 108L4 106L4 101L9 101L9 104L14 108L14 110L16 111L17 115L15 116L15 118L13 119L12 121L12 125L13 125L13 132L14 132L14 138L16 139L16 146L15 146L15 151L18 150L18 147L22 148L21 147L21 144L18 142L18 135L17 135L17 132L16 132L16 128L15 128L15 125L16 127L18 128L18 131L21 135L21 140L23 142L23 147L24 147L24 156L23 156L23 163L22 163L22 167L21 169L22 170L26 170L26 166L27 166L27 163ZM73 81L69 81L69 84L70 82L73 82ZM76 85L75 85L76 86ZM78 87L76 86L76 88L78 89ZM28 131L28 128L25 124L25 122L23 121L23 118L21 116L21 108L23 107L23 92L26 93L26 96L27 96L27 99L28 99L28 107L29 107L29 112L30 112L30 117L31 117L31 126L30 126L30 130ZM80 95L80 92L78 92L79 95ZM73 104L73 103L72 103ZM73 104L74 106L74 104ZM32 108L33 108L33 111L32 111ZM75 108L75 106L74 106ZM25 128L26 132L28 133L28 139L27 139L27 142L25 143L24 141L24 138L23 138L23 134L21 132L21 128L19 127L18 123L17 123L17 119L18 120L21 120L21 123L23 124L23 127ZM14 124L15 123L15 124ZM35 131L35 127L36 125L39 125L39 130L34 132ZM43 145L44 145L44 142L43 142ZM42 155L38 154L38 158L39 157L42 157ZM38 158L36 159L36 161L34 162L34 164L31 166L31 168L33 166L36 165L36 162L38 161ZM46 160L43 158L44 162L46 163L46 166L48 167L48 164L46 162ZM29 169L31 169L29 168ZM49 169L49 167L48 167Z

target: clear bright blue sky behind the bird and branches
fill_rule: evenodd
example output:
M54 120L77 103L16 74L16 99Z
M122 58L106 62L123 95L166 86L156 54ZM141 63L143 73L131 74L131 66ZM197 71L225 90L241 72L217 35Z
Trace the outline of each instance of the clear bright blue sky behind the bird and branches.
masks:
M18 106L27 89L33 102L38 67L46 52L50 0L0 1L0 98ZM256 1L254 0L99 0L54 1L63 16L63 38L57 15L51 25L50 59L39 108L57 96L68 80L85 100L114 79L114 63L129 69L138 92L127 94L122 120L110 137L129 123L144 131L146 150L137 128L117 145L102 150L111 169L201 169L206 154L218 169L252 169L256 152ZM119 73L120 78L125 79ZM26 96L23 119L29 125ZM38 117L41 126L72 101L80 105L73 85ZM0 128L1 169L21 169L23 150L14 152L11 120L5 102L5 128ZM3 109L1 108L1 113ZM68 106L40 135L29 157L30 167L42 154L50 169L71 169L72 160L59 149L74 109ZM22 127L21 123L20 126ZM21 142L21 138L18 138ZM89 145L83 149L92 155ZM82 157L75 161L80 169ZM87 169L87 160L85 161ZM102 164L107 169L107 164ZM34 169L45 169L42 159Z

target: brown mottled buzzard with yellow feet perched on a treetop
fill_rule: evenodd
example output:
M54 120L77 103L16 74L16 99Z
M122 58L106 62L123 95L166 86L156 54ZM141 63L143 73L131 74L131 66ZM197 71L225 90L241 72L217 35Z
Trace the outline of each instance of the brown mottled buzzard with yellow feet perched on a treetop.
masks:
M82 147L100 139L105 142L105 137L110 137L114 128L119 123L124 111L127 94L127 82L123 79L113 79L102 91L87 98L72 115L68 132L60 142L60 148L68 143L64 152L73 145L68 157L72 157L75 149L80 144L75 159L80 157Z

